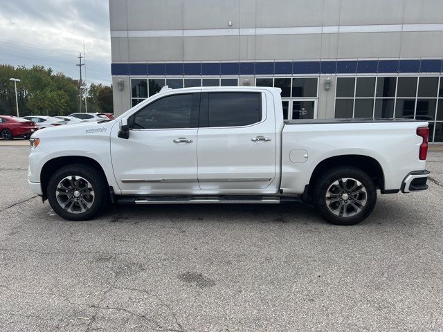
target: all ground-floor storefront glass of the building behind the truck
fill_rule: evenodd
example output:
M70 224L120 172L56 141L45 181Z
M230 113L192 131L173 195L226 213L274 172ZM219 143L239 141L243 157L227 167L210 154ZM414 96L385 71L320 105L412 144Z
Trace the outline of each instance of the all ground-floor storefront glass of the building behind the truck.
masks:
M255 86L282 90L286 120L317 118L319 77L255 77ZM133 78L132 106L158 93L191 86L237 86L239 77ZM251 84L254 85L254 84ZM430 142L443 142L443 78L431 75L337 76L335 118L406 118L425 120ZM335 91L334 91L335 90Z

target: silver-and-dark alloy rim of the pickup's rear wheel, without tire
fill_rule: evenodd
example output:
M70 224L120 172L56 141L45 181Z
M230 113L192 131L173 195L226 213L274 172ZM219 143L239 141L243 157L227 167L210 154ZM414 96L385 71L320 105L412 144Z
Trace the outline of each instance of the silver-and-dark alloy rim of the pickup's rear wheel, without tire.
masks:
M368 201L366 188L355 178L341 178L327 188L326 205L336 216L355 216Z

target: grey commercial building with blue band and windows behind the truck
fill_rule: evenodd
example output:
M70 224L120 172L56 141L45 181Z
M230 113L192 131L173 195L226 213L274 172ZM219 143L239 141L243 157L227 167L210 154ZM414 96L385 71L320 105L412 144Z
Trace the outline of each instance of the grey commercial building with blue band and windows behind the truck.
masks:
M109 0L114 111L165 84L282 89L284 117L416 118L443 142L441 0Z

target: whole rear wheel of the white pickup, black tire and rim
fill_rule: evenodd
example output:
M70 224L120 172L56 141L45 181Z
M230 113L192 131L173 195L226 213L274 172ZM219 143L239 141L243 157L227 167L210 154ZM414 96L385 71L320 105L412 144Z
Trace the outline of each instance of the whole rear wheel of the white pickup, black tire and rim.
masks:
M334 167L316 179L312 196L323 219L335 225L355 225L374 209L377 189L361 169Z

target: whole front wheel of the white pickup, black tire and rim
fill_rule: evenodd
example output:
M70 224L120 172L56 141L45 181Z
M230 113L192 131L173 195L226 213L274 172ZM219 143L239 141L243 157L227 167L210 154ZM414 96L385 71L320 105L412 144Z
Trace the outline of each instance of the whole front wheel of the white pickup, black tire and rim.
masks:
M72 178L72 176L75 177ZM70 185L73 185L72 191ZM89 185L93 192L91 190L88 192ZM57 190L57 186L60 187L59 190ZM77 187L82 189L75 189ZM65 190L67 194L64 192ZM74 196L74 192L75 194L78 192L81 196ZM67 165L57 170L49 179L46 194L55 213L72 221L89 220L97 216L104 210L109 198L106 178L96 167L84 164ZM64 201L65 199L66 201ZM61 201L64 202L60 203ZM62 204L70 206L66 209L66 205L64 208ZM87 204L90 206L85 208Z

